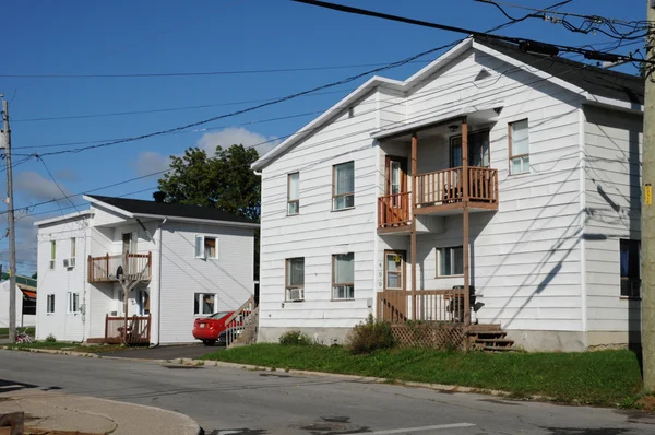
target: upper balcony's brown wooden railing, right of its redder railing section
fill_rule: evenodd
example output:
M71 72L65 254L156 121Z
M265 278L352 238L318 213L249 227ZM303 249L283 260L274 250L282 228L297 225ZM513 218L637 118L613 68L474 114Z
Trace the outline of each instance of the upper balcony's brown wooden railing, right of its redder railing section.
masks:
M461 202L464 198L463 168L436 171L417 176L416 205L429 207ZM471 201L498 202L498 169L468 167L468 199Z

